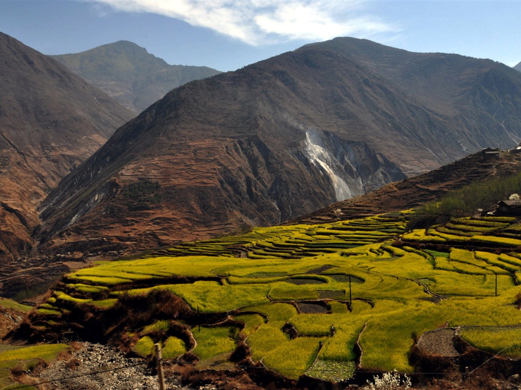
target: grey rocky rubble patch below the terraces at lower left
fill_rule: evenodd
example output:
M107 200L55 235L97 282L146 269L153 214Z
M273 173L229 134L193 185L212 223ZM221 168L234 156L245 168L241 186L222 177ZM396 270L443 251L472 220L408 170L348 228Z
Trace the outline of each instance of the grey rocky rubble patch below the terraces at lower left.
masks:
M48 390L156 390L159 389L155 367L141 358L125 357L118 349L101 344L81 343L64 360L42 369L35 378ZM33 375L34 378L34 375ZM63 379L60 379L63 378ZM166 379L167 390L191 390L179 376ZM197 386L212 390L213 386Z

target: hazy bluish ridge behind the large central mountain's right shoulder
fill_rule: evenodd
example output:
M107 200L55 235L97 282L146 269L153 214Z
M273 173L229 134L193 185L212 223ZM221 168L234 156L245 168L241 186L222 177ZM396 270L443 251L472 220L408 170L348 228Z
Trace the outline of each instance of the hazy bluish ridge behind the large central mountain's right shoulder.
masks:
M483 147L506 149L520 140L519 74L512 68L459 55L411 53L367 40L337 38L324 45L446 116L457 127L460 149L467 153ZM423 135L428 129L412 131ZM430 148L426 142L424 146ZM440 155L440 150L432 152Z

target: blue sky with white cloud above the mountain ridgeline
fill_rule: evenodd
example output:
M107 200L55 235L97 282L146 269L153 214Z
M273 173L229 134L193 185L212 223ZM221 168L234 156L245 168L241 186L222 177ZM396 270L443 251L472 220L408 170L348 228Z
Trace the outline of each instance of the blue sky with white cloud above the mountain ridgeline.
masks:
M337 36L514 66L520 20L521 0L0 0L0 31L43 54L126 40L219 71Z

